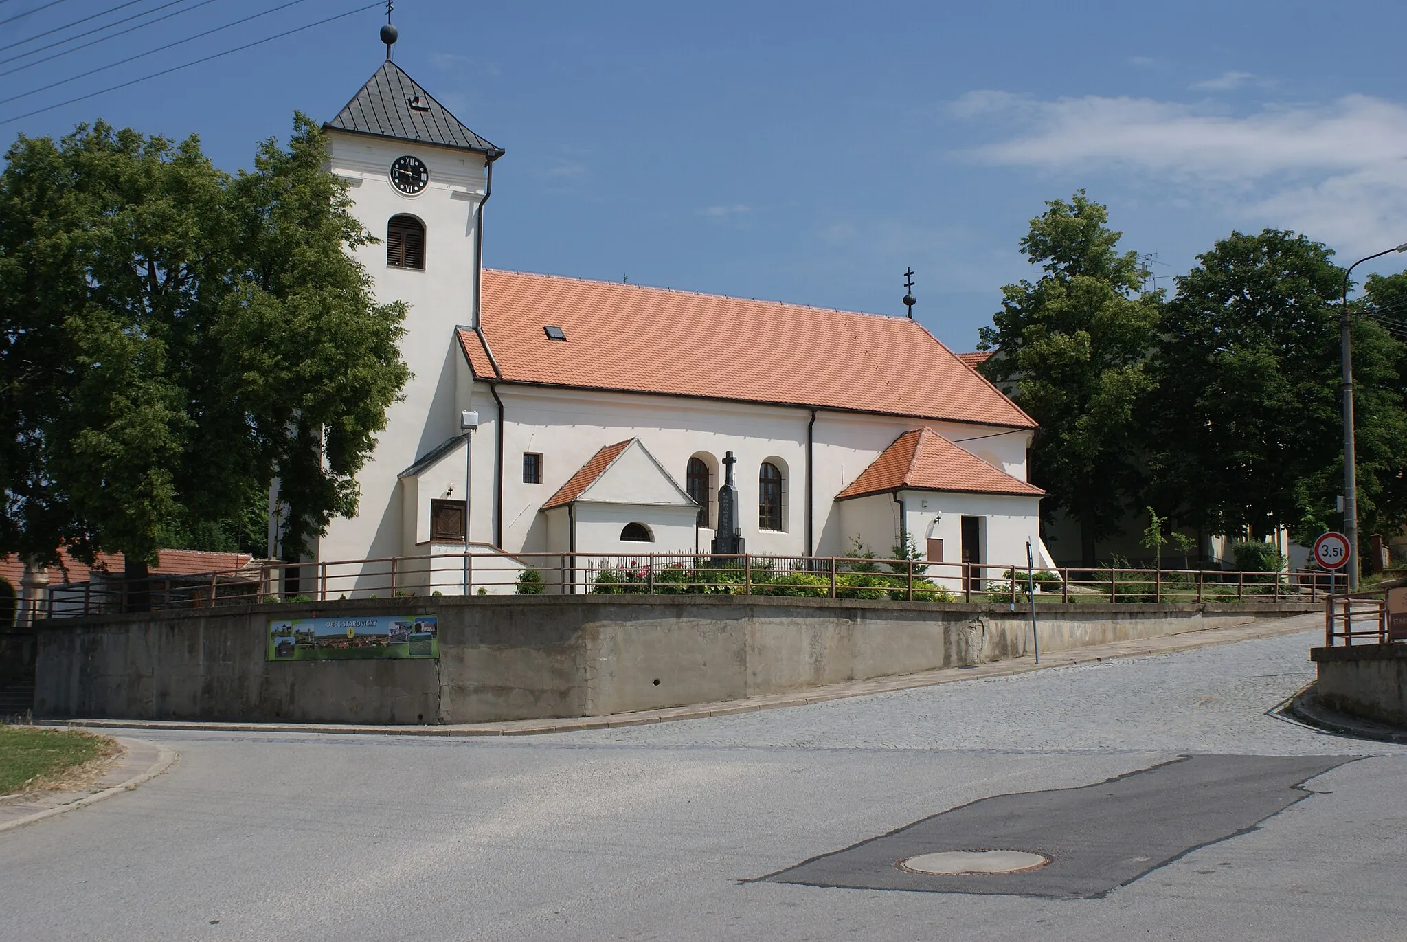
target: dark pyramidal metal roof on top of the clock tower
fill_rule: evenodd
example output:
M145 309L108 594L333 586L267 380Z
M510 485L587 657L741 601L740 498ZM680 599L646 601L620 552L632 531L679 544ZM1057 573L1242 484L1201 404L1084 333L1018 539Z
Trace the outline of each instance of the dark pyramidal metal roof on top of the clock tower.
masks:
M418 107L411 107L416 104ZM370 134L397 141L418 141L487 153L490 161L504 149L478 137L390 59L381 63L362 90L324 128Z

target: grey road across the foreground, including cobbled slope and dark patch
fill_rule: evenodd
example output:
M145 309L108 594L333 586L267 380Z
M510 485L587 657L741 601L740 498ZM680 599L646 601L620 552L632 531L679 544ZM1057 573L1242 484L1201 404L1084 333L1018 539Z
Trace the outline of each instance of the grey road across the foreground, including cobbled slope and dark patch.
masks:
M1273 712L1314 638L542 738L145 732L169 773L0 834L0 939L1407 939L1407 748ZM854 876L986 838L1081 896Z

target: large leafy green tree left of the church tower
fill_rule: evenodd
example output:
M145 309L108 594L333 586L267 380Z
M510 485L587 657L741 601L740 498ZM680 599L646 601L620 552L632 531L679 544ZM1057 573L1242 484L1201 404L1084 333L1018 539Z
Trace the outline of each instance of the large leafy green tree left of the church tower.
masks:
M349 248L370 235L321 131L215 169L108 125L21 137L0 173L0 552L121 552L249 529L274 477L298 546L356 508L407 369L405 311Z

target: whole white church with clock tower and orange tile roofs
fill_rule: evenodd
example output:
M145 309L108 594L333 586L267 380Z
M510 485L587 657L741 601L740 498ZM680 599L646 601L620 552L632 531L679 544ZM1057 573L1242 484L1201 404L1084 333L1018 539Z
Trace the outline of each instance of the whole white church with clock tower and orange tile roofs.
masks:
M933 560L1021 566L1030 542L1050 565L1026 477L1034 422L916 321L485 269L504 151L390 58L324 130L380 239L356 258L409 310L414 376L357 515L311 560L453 566L469 546L476 566L546 574L533 553L803 559L858 538L879 556L912 539ZM737 534L719 532L727 477Z

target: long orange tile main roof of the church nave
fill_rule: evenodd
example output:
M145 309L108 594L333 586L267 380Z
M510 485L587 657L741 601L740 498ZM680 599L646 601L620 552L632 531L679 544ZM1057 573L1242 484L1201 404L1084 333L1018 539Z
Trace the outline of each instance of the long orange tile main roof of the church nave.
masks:
M483 296L481 329L509 383L1036 425L905 317L497 269L484 269ZM495 377L478 337L459 334L474 373Z

